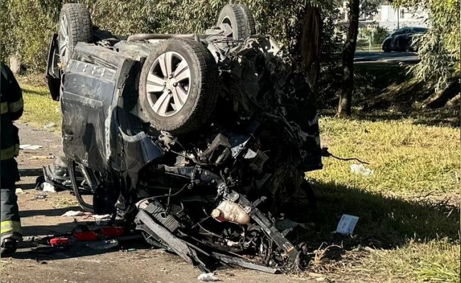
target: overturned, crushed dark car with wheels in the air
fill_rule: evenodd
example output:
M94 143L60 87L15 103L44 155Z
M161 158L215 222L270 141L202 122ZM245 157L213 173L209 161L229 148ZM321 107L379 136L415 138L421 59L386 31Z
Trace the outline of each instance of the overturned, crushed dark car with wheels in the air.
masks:
M303 244L277 221L315 207L315 101L246 6L224 6L204 35L117 37L65 4L47 78L65 158L45 178L84 209L123 216L201 270L300 265Z

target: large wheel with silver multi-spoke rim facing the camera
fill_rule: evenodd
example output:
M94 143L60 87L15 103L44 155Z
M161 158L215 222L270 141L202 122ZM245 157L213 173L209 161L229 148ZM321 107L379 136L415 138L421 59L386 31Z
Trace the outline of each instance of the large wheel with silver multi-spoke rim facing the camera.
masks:
M172 134L201 127L215 108L221 86L211 52L188 39L160 42L145 60L139 83L145 117L155 129Z

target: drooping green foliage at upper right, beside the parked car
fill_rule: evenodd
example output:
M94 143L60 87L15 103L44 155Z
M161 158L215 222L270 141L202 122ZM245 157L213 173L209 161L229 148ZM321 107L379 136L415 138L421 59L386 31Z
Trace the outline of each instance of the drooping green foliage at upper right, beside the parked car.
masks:
M429 11L431 30L416 42L421 63L411 71L418 79L431 80L443 90L460 74L460 0L396 0L394 6Z

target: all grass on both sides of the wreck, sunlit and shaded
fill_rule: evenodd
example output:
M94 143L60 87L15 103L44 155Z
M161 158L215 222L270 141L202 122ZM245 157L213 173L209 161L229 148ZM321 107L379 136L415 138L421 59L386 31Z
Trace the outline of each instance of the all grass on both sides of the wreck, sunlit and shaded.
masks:
M22 86L23 122L59 129L59 104L48 91ZM335 282L460 282L460 128L385 114L322 117L320 125L323 146L369 162L374 174L352 174L355 161L334 158L308 174L318 213L296 236L313 250L310 271ZM360 217L352 236L331 233L342 214Z

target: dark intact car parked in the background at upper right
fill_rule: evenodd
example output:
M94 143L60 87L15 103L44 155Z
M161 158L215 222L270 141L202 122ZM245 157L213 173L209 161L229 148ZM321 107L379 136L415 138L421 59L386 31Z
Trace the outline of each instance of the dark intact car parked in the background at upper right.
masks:
M416 51L418 48L414 45L414 37L423 35L427 31L428 28L399 28L382 42L382 51Z

